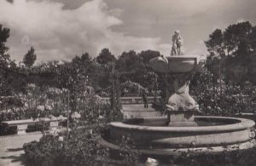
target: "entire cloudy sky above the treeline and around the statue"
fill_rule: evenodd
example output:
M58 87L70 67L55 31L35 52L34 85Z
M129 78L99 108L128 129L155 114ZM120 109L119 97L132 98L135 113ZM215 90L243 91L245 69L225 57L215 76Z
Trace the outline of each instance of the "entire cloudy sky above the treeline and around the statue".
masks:
M0 24L9 27L12 59L32 46L38 62L70 60L103 48L119 56L129 50L168 55L180 30L186 54L207 54L203 41L216 28L249 20L255 0L0 0Z

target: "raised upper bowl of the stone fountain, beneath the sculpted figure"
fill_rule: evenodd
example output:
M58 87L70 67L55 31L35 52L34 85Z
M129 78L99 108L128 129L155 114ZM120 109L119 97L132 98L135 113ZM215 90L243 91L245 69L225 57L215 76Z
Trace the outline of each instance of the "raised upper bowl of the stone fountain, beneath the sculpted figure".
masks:
M200 55L159 56L149 60L149 65L156 72L186 73L191 72L204 58Z

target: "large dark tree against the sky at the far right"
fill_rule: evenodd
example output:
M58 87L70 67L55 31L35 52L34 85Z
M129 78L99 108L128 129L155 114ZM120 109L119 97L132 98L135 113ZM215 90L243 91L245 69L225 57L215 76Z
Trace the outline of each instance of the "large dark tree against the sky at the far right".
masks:
M205 42L210 56L207 59L209 71L215 75L224 76L226 82L242 83L247 80L247 70L253 63L256 50L256 28L250 22L240 22L228 26L224 31L216 29ZM243 70L241 77L235 68Z

